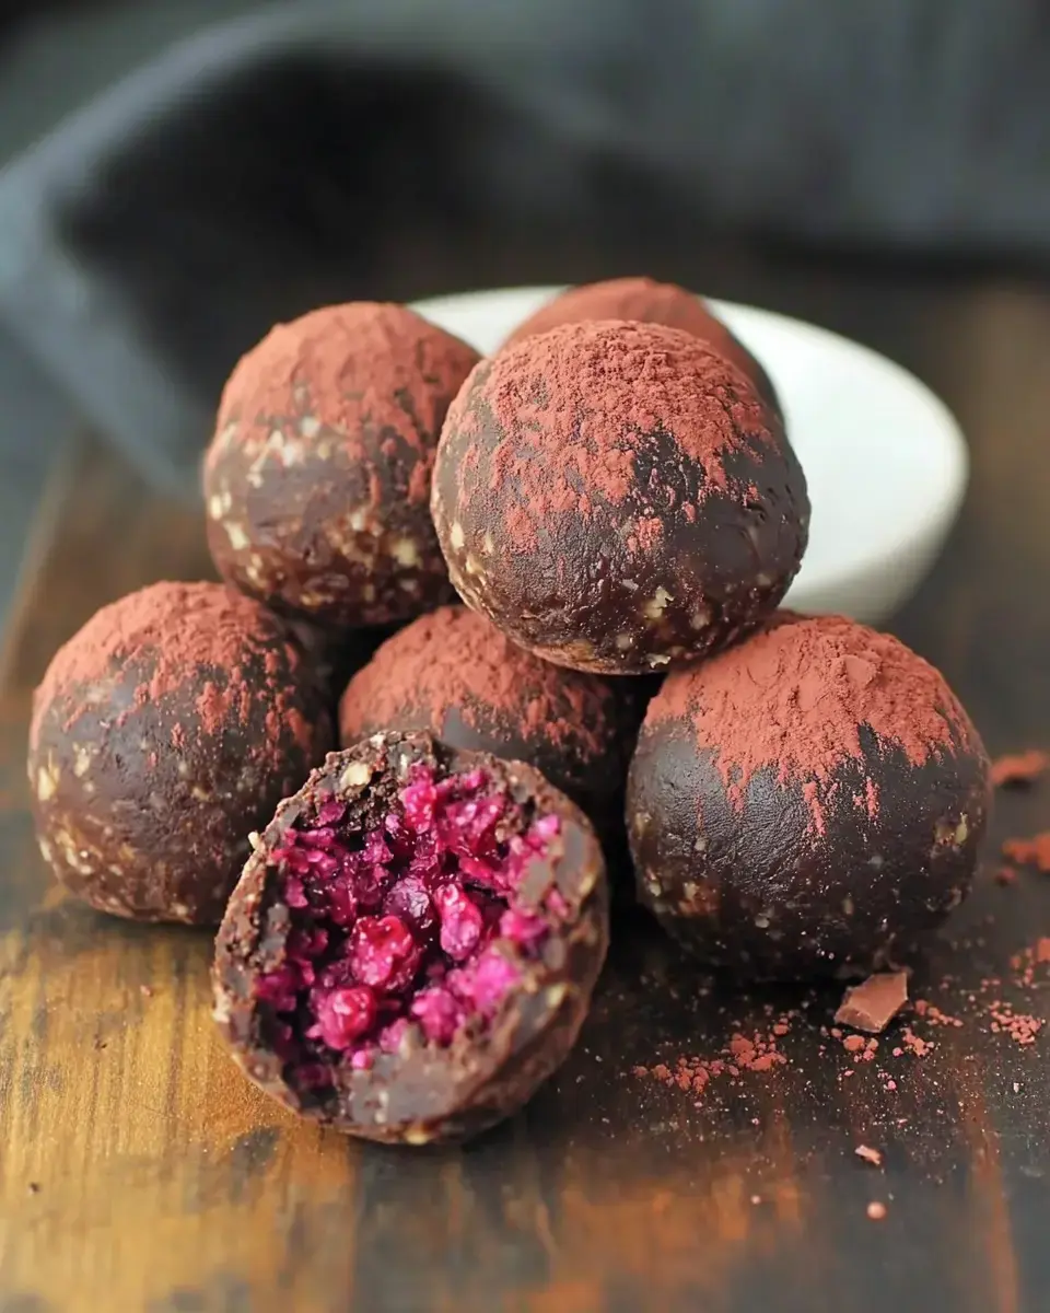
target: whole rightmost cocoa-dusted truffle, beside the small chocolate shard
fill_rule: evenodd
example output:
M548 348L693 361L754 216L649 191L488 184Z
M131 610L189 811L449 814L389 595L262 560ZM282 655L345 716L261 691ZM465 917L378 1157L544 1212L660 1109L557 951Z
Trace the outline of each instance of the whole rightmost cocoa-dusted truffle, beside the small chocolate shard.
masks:
M987 813L944 678L837 616L781 614L669 675L627 783L642 901L746 977L904 965L966 895Z

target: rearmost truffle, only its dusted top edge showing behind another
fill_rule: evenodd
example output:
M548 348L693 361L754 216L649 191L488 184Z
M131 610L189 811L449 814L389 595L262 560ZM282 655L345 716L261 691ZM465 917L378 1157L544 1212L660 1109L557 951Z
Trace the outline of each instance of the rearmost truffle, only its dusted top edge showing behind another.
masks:
M682 332L700 337L747 374L763 400L781 419L784 418L773 381L759 361L740 339L711 314L694 291L686 291L675 282L656 282L654 278L609 278L605 282L570 288L520 323L504 345L509 347L524 337L547 332L559 324L583 323L588 319L635 319L640 323L681 328Z

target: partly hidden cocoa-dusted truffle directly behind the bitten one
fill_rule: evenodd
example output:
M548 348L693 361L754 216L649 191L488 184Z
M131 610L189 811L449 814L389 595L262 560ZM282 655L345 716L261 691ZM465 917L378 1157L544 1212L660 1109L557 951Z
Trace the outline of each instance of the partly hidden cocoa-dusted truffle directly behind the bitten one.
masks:
M377 730L427 730L452 747L528 762L602 836L623 842L623 784L640 714L612 680L562 670L466 607L420 616L346 687L344 747Z

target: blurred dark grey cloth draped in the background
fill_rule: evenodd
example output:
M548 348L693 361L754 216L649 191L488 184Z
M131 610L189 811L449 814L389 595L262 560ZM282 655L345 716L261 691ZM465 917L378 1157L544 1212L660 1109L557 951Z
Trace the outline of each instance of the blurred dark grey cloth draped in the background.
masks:
M1045 259L1050 9L285 3L175 49L0 176L0 316L190 490L236 355L277 318L382 294L385 243L643 222Z

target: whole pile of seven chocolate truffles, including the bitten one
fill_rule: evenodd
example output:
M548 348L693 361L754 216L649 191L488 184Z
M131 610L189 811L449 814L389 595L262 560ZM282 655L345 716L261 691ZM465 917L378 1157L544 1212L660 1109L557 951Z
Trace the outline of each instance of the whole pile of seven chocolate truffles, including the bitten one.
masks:
M738 976L907 960L965 895L980 739L895 639L777 611L805 475L684 289L575 289L488 360L403 306L278 326L203 491L227 586L56 654L37 825L94 907L222 919L219 1025L304 1116L423 1144L532 1095L601 970L625 793L642 902Z

